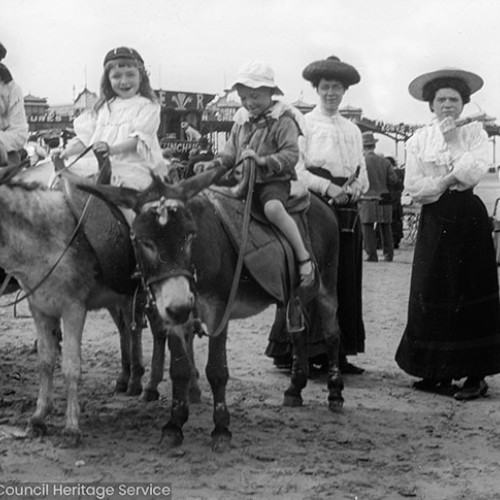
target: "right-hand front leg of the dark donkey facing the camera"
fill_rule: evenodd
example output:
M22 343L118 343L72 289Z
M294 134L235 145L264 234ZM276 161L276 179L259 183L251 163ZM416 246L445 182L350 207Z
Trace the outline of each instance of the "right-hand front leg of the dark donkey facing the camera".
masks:
M212 329L210 331L213 331ZM226 405L226 385L229 379L226 355L227 325L218 337L210 337L208 342L208 363L206 374L214 397L214 430L212 450L224 451L231 441L229 411Z

